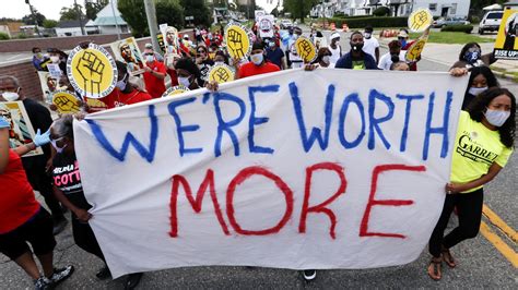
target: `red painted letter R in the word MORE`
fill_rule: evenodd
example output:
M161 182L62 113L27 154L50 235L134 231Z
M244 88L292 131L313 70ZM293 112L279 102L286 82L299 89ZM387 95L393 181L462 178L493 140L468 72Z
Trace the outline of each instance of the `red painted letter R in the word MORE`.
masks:
M317 170L332 170L337 172L337 174L340 178L340 186L338 188L337 192L333 195L331 195L331 197L326 200L323 203L310 207L309 194L311 190L313 172ZM327 208L326 206L334 202L334 200L337 200L340 196L340 194L345 193L346 184L348 184L348 181L345 180L345 174L343 173L343 167L337 164L322 162L322 164L317 164L317 165L306 168L306 184L305 184L305 190L304 190L304 203L303 203L303 208L301 213L301 222L298 225L298 232L301 233L306 232L307 214L321 213L321 214L328 215L329 219L331 220L329 234L331 235L332 239L335 239L337 235L334 233L334 228L337 226L337 216L331 209Z

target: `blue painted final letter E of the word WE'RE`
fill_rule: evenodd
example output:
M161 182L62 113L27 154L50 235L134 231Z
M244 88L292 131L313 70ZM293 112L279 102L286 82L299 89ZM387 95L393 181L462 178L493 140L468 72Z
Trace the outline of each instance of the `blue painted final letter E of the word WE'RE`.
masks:
M258 146L256 145L256 142L254 141L255 126L259 124L263 124L268 122L268 120L270 119L268 117L256 117L256 95L255 95L256 92L261 92L261 93L279 92L279 85L248 87L248 96L250 98L250 105L251 105L250 119L248 122L248 147L250 149L250 153L272 154L273 153L272 148Z

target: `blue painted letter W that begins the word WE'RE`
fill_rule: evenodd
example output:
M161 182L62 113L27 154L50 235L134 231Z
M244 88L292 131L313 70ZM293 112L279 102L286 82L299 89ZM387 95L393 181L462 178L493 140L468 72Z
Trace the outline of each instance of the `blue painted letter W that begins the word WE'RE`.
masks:
M132 144L140 156L151 164L155 157L156 140L158 138L158 118L155 116L154 105L149 106L149 118L151 122L149 148L145 148L131 132L128 132L126 133L125 141L122 142L122 146L119 150L115 149L111 143L109 143L109 141L106 138L101 125L98 125L94 120L85 119L85 121L89 123L90 128L92 129L92 133L101 146L114 158L118 159L119 161L123 161L126 159L129 145Z

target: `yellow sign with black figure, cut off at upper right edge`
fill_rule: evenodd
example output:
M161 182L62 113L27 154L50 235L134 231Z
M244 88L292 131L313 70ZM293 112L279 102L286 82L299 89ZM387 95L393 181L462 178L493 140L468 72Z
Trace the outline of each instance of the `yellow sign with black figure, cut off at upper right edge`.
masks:
M518 59L518 10L507 9L502 17L501 28L495 41L495 58Z

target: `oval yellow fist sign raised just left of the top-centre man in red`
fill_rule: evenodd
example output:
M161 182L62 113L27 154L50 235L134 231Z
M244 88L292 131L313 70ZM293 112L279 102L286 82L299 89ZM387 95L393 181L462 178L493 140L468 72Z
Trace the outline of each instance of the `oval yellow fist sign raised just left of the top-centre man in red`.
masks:
M225 44L233 59L245 59L251 52L251 32L240 24L229 23L225 27Z

